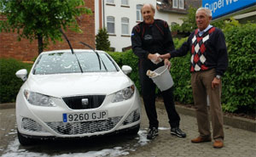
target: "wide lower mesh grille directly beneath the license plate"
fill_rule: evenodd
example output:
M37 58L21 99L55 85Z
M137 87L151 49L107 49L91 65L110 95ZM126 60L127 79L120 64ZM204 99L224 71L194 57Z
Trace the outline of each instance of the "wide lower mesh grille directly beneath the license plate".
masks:
M55 132L62 135L77 135L84 133L105 132L113 129L121 120L122 116L108 118L103 121L83 121L83 122L47 122L46 124Z

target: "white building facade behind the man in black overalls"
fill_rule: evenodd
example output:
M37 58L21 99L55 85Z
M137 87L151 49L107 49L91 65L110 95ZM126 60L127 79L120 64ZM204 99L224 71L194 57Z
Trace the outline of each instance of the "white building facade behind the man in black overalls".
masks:
M100 3L102 2L102 21L99 20L100 14ZM122 52L122 48L126 48L131 46L131 31L134 25L137 25L137 4L143 3L151 3L156 8L156 0L129 0L129 8L121 7L120 0L114 0L114 5L106 5L106 0L96 0L96 34L100 29L101 22L103 23L102 26L105 25L107 27L107 16L113 16L115 19L115 33L114 35L109 35L108 40L110 41L111 47L115 48L115 51ZM103 14L103 11L105 12ZM122 36L121 35L121 18L126 17L129 19L129 36ZM159 12L157 9L155 10L155 19L166 20L169 25L172 22L176 22L177 24L181 24L183 18L183 14L172 14L166 12Z

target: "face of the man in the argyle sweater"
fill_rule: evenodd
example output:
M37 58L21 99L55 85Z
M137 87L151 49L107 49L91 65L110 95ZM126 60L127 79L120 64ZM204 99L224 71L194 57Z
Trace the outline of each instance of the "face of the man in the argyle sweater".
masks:
M203 31L207 28L212 20L211 16L207 16L204 10L200 10L195 14L196 25L200 31Z

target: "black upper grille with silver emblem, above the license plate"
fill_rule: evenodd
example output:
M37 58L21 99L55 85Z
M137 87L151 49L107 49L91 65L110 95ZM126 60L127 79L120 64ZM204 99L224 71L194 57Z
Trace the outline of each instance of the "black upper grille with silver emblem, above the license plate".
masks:
M62 98L70 109L95 109L102 105L105 95L84 95Z

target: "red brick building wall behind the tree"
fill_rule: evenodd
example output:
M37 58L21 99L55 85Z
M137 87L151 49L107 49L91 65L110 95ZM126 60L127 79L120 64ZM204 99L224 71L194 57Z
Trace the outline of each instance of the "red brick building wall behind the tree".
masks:
M95 48L95 15L94 15L94 0L84 0L85 6L91 8L93 14L84 14L77 18L83 33L79 34L73 31L67 31L66 35L71 42L73 48L84 48L79 42L86 42L91 47ZM0 16L0 20L6 18ZM22 61L31 61L38 56L38 41L34 40L30 42L26 39L17 41L17 33L13 32L2 32L0 33L0 58L14 58ZM64 39L64 38L63 38ZM44 51L55 50L55 49L67 49L69 48L65 39L63 42L56 42L55 44L50 43L49 47Z

